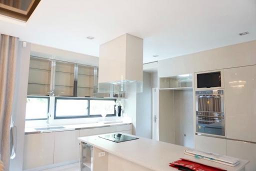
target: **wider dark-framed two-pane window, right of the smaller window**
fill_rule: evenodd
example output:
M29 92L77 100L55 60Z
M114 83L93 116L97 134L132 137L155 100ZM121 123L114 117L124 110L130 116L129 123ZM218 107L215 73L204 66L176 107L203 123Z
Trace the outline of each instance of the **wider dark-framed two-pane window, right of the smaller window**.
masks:
M54 119L115 116L115 99L55 97Z

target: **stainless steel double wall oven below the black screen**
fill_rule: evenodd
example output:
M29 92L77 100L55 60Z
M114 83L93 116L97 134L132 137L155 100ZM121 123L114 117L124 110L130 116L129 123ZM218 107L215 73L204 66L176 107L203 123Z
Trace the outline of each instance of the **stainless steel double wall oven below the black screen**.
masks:
M225 135L223 89L198 90L196 97L196 132Z

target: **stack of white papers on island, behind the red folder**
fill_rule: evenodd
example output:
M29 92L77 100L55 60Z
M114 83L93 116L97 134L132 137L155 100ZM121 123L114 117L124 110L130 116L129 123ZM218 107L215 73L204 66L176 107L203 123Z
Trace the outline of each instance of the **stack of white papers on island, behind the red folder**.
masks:
M226 155L220 155L217 153L203 152L196 149L186 149L184 153L187 155L195 156L197 158L203 158L203 159L207 159L210 161L214 161L214 162L218 162L218 163L226 164L230 166L236 166L237 164L239 164L238 158L234 158Z

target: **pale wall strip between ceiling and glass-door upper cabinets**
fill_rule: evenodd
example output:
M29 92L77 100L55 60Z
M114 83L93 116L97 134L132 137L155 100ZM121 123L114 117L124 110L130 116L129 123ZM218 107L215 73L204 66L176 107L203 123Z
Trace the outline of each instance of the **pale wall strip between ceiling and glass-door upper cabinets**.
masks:
M87 54L75 53L38 44L31 44L31 55L56 60L69 61L92 66L98 66L98 57Z

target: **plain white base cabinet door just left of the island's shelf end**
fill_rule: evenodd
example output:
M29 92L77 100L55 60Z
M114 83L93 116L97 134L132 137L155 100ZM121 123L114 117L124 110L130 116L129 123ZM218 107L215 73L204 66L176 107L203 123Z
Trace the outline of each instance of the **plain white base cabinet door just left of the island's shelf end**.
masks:
M54 163L79 160L79 130L55 132Z

